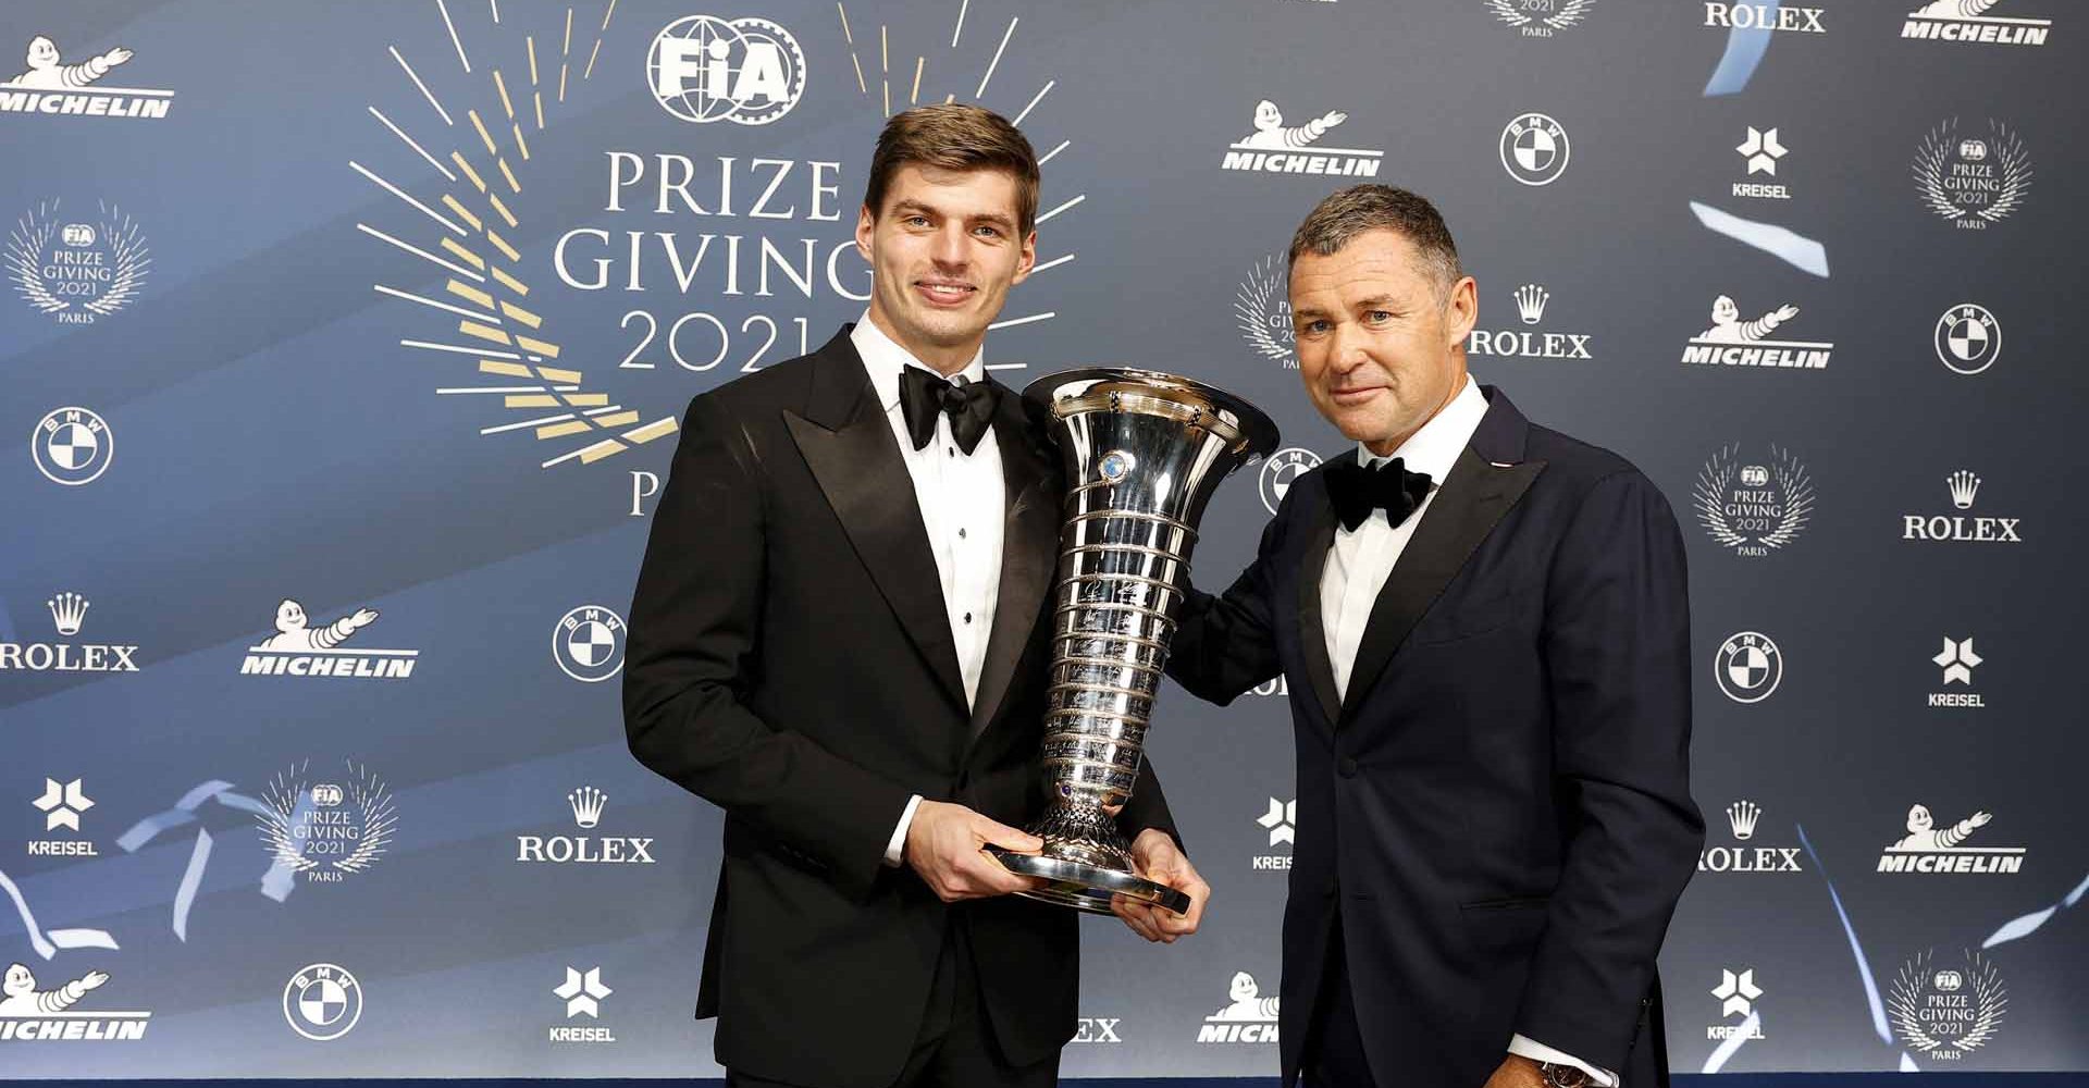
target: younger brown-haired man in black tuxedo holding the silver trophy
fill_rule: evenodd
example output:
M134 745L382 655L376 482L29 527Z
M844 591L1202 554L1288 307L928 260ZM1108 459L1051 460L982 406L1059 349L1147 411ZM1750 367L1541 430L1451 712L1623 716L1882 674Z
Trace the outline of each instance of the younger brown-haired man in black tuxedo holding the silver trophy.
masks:
M735 1086L1049 1086L1078 915L1036 852L1063 480L986 326L1036 261L1030 142L978 107L892 117L856 246L871 305L696 397L631 604L625 727L725 810L698 1017ZM1120 814L1197 929L1210 888L1149 768Z

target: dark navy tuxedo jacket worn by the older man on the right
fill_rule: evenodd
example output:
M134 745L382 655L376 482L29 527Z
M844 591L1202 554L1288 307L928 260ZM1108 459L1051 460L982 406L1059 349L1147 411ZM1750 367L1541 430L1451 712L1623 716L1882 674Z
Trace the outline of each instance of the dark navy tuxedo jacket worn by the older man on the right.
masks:
M1684 543L1621 457L1489 407L1335 695L1324 468L1293 480L1168 672L1230 702L1283 672L1297 737L1281 1050L1339 921L1379 1084L1479 1088L1510 1034L1667 1084L1654 954L1696 865ZM1345 453L1343 457L1356 457Z

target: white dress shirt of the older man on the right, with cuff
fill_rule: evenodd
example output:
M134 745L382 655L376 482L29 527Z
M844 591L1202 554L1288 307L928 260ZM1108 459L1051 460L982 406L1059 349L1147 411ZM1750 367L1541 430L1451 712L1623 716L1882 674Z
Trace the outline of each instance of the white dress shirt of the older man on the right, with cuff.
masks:
M1358 464L1372 466L1400 457L1408 472L1427 472L1431 482L1429 495L1398 526L1387 520L1383 510L1372 510L1370 518L1356 526L1356 530L1335 526L1335 543L1329 547L1327 566L1320 570L1320 616L1327 626L1327 660L1335 666L1335 691L1343 700L1349 697L1349 670L1356 666L1356 647L1364 641L1370 608L1379 601L1385 578L1391 576L1400 553L1414 539L1414 528L1421 526L1429 514L1429 505L1443 491L1443 480L1450 476L1452 466L1458 464L1464 447L1471 445L1483 416L1487 416L1487 397L1479 393L1479 382L1466 376L1464 386L1443 405L1443 411L1437 411L1421 430L1400 443L1400 449L1389 457L1379 457L1364 449L1362 443L1356 445ZM1617 1086L1617 1073L1554 1050L1533 1038L1510 1036L1508 1052L1531 1061L1573 1065L1596 1078L1598 1084Z

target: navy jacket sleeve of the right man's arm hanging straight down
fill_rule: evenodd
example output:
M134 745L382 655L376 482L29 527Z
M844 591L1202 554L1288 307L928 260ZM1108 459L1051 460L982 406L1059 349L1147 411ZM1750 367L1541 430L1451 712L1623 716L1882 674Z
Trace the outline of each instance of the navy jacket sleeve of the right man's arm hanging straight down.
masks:
M1705 844L1690 800L1684 541L1640 472L1581 499L1546 581L1542 652L1569 837L1517 1034L1623 1069Z

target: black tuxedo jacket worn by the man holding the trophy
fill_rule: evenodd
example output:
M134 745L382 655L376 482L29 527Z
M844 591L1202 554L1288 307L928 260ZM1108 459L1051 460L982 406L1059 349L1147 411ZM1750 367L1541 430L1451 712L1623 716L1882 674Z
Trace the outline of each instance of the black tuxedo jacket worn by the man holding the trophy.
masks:
M911 794L1013 827L1044 804L1063 482L1015 393L994 441L1001 597L967 710L913 482L848 328L689 403L631 604L625 727L646 766L725 808L698 1017L719 1017L729 1069L890 1084L950 925L1009 1061L1074 1034L1072 910L946 906L882 865ZM1149 771L1120 821L1174 833Z

